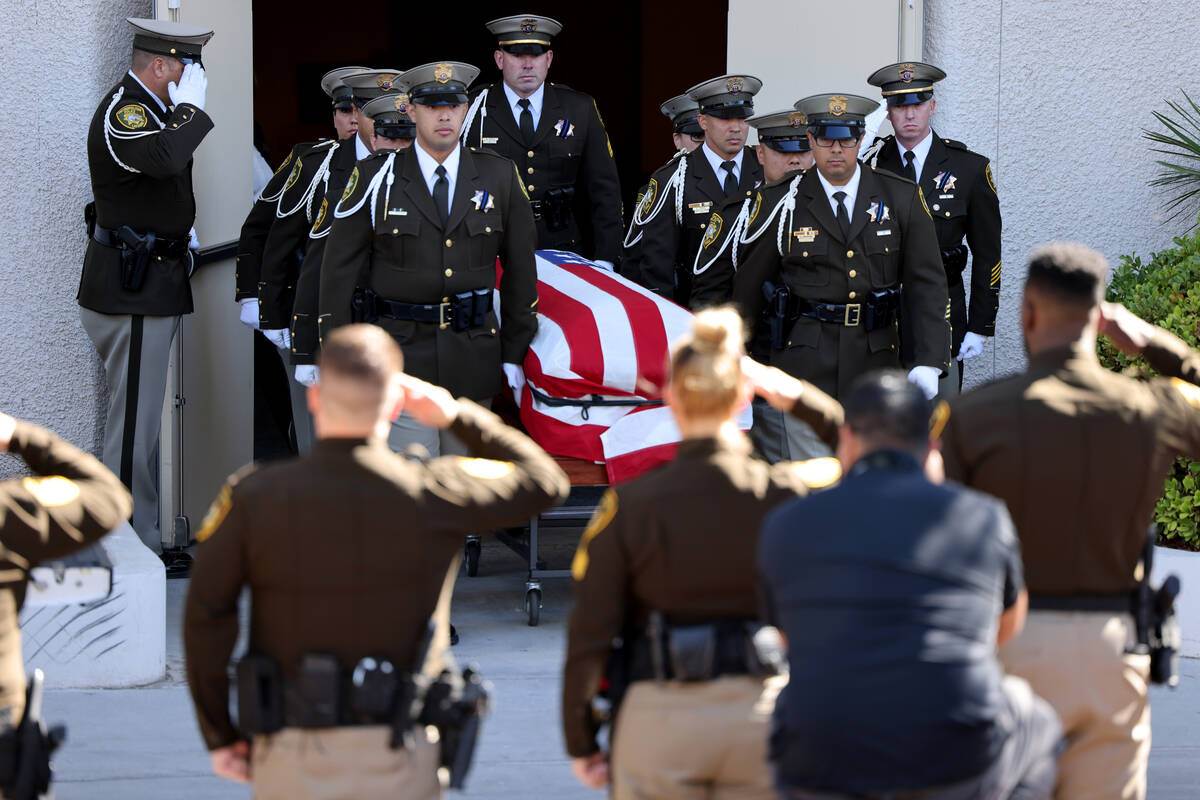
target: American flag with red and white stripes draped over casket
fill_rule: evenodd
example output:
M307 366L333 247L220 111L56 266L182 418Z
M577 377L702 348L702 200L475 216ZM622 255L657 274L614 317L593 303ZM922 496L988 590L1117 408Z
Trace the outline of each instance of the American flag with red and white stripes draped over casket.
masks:
M536 257L538 335L514 392L526 431L547 452L602 462L610 483L671 461L679 429L661 386L691 314L575 253Z

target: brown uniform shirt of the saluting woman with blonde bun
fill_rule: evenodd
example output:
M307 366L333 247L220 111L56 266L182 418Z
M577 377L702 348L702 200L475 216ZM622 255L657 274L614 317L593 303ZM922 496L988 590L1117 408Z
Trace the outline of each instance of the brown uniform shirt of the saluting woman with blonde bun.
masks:
M841 407L832 398L812 387L792 413L836 443ZM686 439L670 464L601 500L571 565L563 732L572 758L598 750L590 703L613 638L644 630L652 610L682 622L757 619L763 518L838 475L832 459L768 465L750 451L744 437Z

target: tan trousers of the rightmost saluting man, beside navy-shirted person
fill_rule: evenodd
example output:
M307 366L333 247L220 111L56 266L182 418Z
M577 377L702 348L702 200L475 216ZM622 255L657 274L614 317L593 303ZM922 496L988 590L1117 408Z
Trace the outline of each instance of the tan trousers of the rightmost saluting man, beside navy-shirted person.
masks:
M1126 655L1128 614L1030 612L1000 651L1006 672L1030 681L1062 718L1060 800L1142 800L1150 758L1150 656Z

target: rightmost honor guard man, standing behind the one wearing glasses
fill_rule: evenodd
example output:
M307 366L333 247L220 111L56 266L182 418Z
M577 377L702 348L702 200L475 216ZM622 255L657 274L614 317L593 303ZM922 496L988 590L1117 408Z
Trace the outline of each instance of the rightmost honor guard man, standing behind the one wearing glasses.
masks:
M944 77L937 67L917 61L886 66L866 79L882 89L895 133L876 139L864 161L914 181L925 193L950 290L950 356L958 361L958 387L962 389L966 362L983 353L984 338L996 332L1001 219L988 158L971 152L961 142L940 138L930 125L937 107L934 84ZM962 285L967 247L970 309ZM900 338L905 356L911 357L906 329Z

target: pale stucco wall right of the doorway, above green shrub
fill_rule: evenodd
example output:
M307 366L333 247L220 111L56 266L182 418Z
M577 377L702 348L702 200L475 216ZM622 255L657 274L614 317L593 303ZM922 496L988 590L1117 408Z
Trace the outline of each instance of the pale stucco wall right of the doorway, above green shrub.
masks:
M1162 0L925 0L925 60L946 70L934 127L992 160L1004 217L997 333L967 381L1025 363L1020 288L1040 242L1073 239L1148 257L1163 224L1141 128L1180 89L1200 92L1200 4Z

